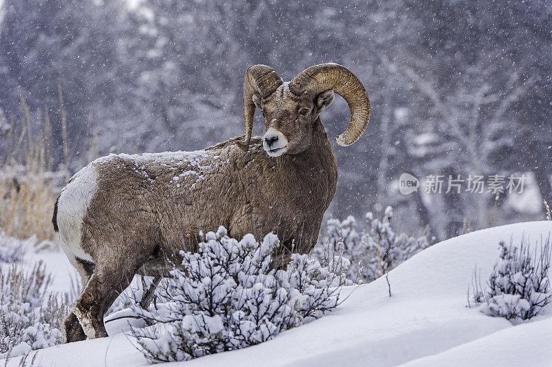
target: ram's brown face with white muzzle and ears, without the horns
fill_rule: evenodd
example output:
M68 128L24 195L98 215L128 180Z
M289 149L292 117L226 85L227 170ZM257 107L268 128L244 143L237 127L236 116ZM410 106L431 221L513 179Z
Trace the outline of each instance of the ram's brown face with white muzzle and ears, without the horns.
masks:
M315 97L307 94L296 96L290 92L287 83L265 99L253 95L253 102L264 116L263 148L266 153L270 157L279 157L306 150L313 141L319 112L332 101L332 90Z

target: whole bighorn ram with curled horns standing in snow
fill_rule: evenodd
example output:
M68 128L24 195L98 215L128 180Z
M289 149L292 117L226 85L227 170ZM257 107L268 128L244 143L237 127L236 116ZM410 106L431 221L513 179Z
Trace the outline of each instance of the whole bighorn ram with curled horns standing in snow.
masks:
M335 140L362 135L370 101L353 73L334 63L312 66L289 83L255 65L244 79L245 139L196 152L109 155L81 169L63 188L52 223L79 270L83 291L65 320L66 341L107 336L103 315L135 274L161 277L167 259L197 248L200 230L229 235L275 232L308 252L337 186L337 165L319 112L334 92L351 110ZM255 108L264 137L251 137Z

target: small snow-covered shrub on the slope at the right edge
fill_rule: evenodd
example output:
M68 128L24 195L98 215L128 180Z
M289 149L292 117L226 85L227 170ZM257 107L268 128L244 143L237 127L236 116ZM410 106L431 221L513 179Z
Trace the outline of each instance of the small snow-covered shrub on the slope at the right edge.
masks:
M529 246L522 240L519 247L512 243L500 246L500 259L493 272L480 286L477 272L474 273L473 301L480 305L486 315L505 319L531 319L549 304L552 288L548 276L550 269L550 237L541 239L540 250L535 248L533 257Z

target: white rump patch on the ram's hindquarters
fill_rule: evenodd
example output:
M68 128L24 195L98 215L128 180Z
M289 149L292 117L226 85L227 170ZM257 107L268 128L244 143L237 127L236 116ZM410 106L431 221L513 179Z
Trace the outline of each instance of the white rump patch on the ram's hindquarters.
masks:
M98 172L92 164L79 170L71 182L63 188L57 203L59 241L69 261L75 257L95 262L81 248L82 224L90 201L98 188ZM76 264L73 264L76 266Z

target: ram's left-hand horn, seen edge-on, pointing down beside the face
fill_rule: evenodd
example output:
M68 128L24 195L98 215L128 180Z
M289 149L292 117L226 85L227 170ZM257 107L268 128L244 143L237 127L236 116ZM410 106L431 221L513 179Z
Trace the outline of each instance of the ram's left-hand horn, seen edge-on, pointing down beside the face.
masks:
M266 65L253 65L246 70L244 77L244 127L246 136L244 143L238 145L247 150L251 140L251 130L253 130L253 117L255 117L255 103L253 95L260 95L266 98L273 94L279 86L284 83L276 70Z

